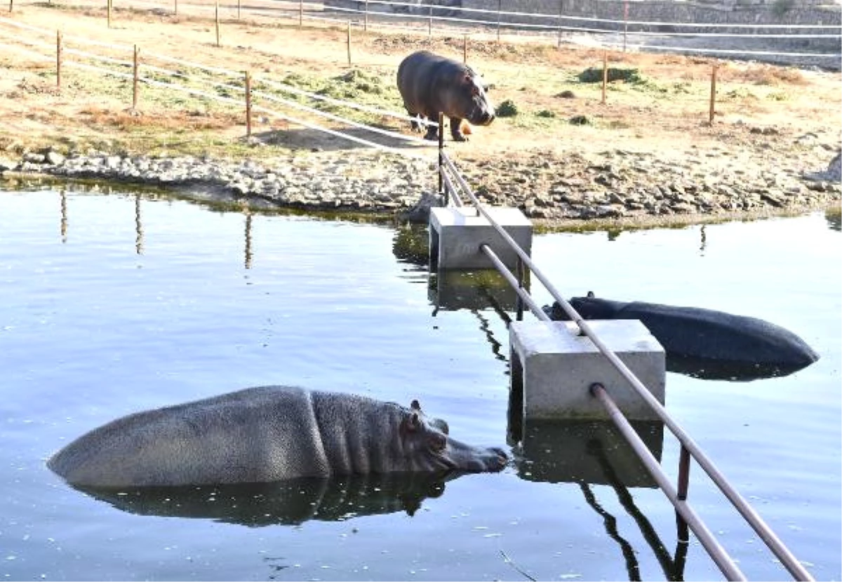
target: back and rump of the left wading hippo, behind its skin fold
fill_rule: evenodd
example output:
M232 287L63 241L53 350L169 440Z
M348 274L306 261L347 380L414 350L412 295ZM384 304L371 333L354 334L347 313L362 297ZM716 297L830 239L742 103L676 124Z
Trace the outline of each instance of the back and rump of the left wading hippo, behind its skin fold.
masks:
M125 416L79 437L48 464L71 484L100 487L330 473L310 393L277 386Z

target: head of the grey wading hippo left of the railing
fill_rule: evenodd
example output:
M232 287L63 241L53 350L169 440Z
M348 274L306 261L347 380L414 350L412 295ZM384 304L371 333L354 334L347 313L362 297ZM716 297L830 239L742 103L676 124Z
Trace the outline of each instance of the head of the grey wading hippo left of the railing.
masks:
M401 421L400 439L413 471L491 472L504 468L508 460L497 447L472 447L450 438L447 423L428 420L418 400L413 400Z

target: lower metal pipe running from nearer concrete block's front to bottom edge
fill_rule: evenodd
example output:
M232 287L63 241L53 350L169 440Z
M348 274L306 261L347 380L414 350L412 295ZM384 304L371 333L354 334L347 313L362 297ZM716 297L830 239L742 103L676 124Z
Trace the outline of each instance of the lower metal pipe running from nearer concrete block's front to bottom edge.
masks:
M647 448L646 443L637 435L632 425L629 424L629 421L626 420L626 417L617 408L614 400L605 391L605 387L602 384L592 384L590 393L605 407L614 426L622 433L623 437L626 437L626 441L632 446L637 457L640 458L649 474L658 483L658 487L663 490L663 494L667 496L670 503L674 505L675 510L681 514L687 525L693 530L695 537L699 539L699 542L701 542L701 545L704 546L707 553L717 564L722 574L725 574L725 577L729 580L747 580L745 575L738 569L737 564L734 563L733 558L728 555L725 548L722 548L717 538L707 529L707 526L696 515L690 505L686 501L679 500L673 484L669 482L669 477L663 473L661 466L658 464L658 459L653 456L652 452Z

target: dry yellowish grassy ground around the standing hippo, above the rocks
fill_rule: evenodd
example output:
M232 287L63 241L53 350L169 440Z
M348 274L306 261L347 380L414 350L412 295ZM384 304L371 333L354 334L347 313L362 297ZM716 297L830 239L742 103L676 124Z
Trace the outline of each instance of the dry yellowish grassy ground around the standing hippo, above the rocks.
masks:
M28 6L16 13L16 18L53 30L61 22L68 37L72 34L104 43L136 44L141 47L141 56L152 52L183 56L187 61L229 71L253 71L256 77L274 81L295 77L301 88L311 91L344 92L349 88L348 83L338 81L349 72L344 29L298 29L278 20L227 20L223 45L216 47L213 21L207 18L117 10L118 24L106 29L102 8L57 6ZM463 43L463 38L455 36L428 40L425 35L355 33L351 70L381 82L381 91L360 94L360 98L400 111L394 75L402 57L424 48L461 60ZM782 150L792 143L793 135L839 131L838 124L826 123L842 110L838 77L695 56L610 52L609 66L634 69L639 74L635 82L610 83L607 102L602 103L600 84L580 82L578 74L601 67L604 56L604 50L573 45L558 50L554 42L536 45L523 40L497 43L469 39L467 60L494 83L493 100L511 100L520 113L475 130L470 144L452 145L454 152L509 157L559 149L602 152L626 148L681 156L682 152L722 144L752 146L752 140L758 150L770 146ZM707 112L715 63L721 65L721 84L717 123L711 127ZM199 87L200 71L182 68L191 78L189 82ZM61 93L57 93L51 89L53 75L50 62L0 55L0 147L20 151L52 142L81 149L86 144L96 146L107 141L115 148L139 153L214 152L227 157L259 157L271 156L287 146L279 141L286 133L278 132L280 124L274 123L262 128L272 146L249 150L238 139L245 134L245 119L243 107L236 103L143 87L139 102L142 115L135 115L126 111L132 102L131 82L73 70L67 72ZM237 93L232 89L228 94L218 94L237 99ZM561 94L568 98L558 97ZM290 110L285 113L296 115ZM592 123L569 123L570 119L583 118ZM396 119L377 116L365 121L408 133L408 124ZM322 124L342 129L330 122ZM775 126L780 131L775 135L752 134L748 129L753 126ZM289 147L310 149L327 143L327 138L322 140L298 128L291 128L291 134L306 135L308 141L290 142ZM775 140L780 143L772 143ZM334 142L328 145L336 148Z

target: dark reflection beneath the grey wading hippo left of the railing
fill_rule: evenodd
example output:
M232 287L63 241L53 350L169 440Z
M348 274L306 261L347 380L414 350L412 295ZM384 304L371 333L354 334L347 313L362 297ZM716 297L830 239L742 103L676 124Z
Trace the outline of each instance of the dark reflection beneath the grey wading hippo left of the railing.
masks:
M141 516L189 517L258 527L344 521L397 511L412 516L425 499L444 493L446 481L459 476L372 474L259 484L77 489Z

